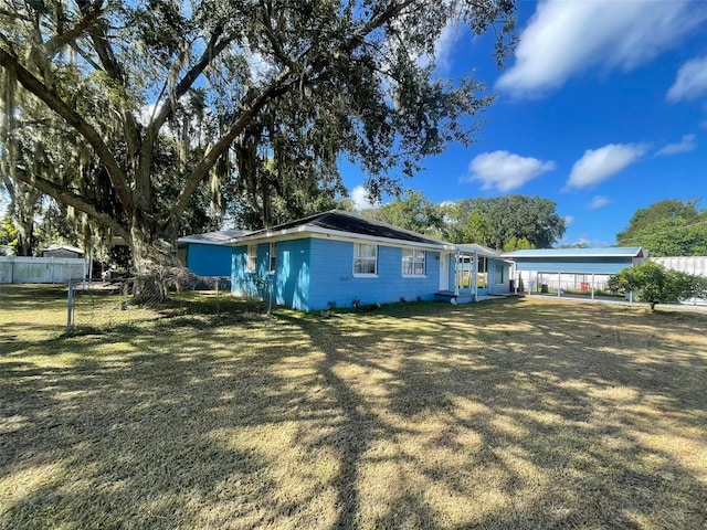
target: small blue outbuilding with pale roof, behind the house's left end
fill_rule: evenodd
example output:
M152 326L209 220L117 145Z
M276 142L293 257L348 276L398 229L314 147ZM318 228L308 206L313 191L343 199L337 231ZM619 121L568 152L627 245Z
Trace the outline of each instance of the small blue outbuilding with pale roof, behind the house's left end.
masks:
M234 239L247 234L244 230L222 230L187 235L177 240L177 257L199 276L231 276Z

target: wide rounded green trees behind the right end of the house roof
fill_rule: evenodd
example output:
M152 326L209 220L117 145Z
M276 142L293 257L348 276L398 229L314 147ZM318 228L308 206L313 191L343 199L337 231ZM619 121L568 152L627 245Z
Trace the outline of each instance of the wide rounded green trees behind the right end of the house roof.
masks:
M454 243L479 243L493 248L525 240L521 244L531 245L530 248L548 248L566 230L564 220L555 209L555 202L539 197L466 199L445 208L447 237Z

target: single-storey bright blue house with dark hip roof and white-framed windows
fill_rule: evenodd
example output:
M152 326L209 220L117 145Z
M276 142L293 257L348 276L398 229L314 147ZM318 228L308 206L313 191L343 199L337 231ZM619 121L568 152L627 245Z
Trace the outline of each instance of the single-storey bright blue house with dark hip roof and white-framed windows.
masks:
M510 264L495 251L457 247L338 210L243 234L231 244L233 292L251 294L267 282L273 303L305 311L412 300L465 303L496 289L508 293ZM496 262L505 271L498 276ZM479 263L483 273L473 265Z

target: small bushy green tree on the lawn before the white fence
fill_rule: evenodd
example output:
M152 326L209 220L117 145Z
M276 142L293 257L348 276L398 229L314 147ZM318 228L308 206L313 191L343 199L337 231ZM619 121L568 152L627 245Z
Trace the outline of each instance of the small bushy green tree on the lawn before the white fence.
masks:
M654 262L644 262L624 268L609 278L606 287L621 296L637 292L639 298L650 303L653 310L656 304L704 297L707 295L707 278L669 271Z

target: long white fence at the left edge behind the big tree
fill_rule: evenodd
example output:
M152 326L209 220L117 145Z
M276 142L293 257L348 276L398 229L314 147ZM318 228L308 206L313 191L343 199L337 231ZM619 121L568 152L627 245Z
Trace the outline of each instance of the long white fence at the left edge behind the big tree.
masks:
M0 284L65 284L87 273L83 258L0 256Z

